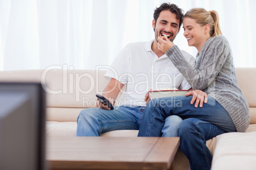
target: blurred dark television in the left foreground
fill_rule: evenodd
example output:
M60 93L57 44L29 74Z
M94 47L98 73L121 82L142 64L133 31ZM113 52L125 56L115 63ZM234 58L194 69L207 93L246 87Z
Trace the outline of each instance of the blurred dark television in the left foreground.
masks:
M45 91L39 83L0 83L0 169L46 169Z

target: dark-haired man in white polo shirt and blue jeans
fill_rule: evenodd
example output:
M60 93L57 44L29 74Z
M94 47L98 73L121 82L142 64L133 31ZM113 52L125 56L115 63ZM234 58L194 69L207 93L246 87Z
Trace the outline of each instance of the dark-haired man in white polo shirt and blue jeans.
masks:
M103 96L111 103L115 103L121 89L126 85L122 105L110 110L98 101L99 108L82 110L77 120L76 136L100 136L101 133L120 129L138 130L148 101L148 95L145 95L148 89L191 88L171 60L157 46L159 36L174 41L182 24L182 10L174 4L164 3L156 8L153 17L155 39L125 46L112 63L113 69L105 74L110 82L104 89ZM195 60L191 55L183 52L183 56L194 66ZM168 117L162 130L163 136L176 136L180 122L180 117Z

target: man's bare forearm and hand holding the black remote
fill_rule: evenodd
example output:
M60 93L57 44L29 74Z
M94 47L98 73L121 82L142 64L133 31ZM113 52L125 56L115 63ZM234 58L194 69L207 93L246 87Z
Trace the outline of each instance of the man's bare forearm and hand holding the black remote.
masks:
M103 91L103 96L110 101L110 103L113 105L115 103L115 100L117 99L118 94L120 93L120 90L124 87L124 84L122 82L118 81L117 79L111 78L110 82L108 83L108 86ZM103 105L99 100L97 100L97 107L104 108L106 110L110 110L109 107L106 105Z

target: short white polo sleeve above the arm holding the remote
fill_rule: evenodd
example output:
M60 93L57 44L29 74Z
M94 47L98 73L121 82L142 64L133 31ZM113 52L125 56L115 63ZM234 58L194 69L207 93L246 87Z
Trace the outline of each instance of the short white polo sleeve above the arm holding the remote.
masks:
M129 76L129 65L130 65L130 57L131 50L129 44L125 46L122 51L117 55L114 62L108 68L104 77L106 79L117 79L122 82L122 84L126 84Z

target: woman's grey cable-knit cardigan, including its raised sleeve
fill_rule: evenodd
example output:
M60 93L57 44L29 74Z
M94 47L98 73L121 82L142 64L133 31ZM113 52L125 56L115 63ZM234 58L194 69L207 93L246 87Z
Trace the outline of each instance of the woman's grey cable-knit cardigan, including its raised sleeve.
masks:
M245 132L250 123L248 103L238 87L231 48L224 36L210 37L197 54L192 67L173 46L166 55L183 74L193 89L200 89L227 110L236 130Z

